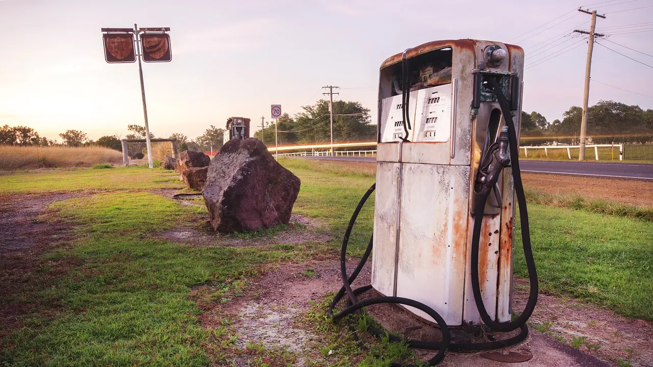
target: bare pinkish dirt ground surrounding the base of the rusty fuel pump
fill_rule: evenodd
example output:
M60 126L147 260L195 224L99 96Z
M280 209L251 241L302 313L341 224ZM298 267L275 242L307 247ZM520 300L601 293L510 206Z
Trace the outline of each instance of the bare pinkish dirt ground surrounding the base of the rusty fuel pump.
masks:
M353 270L355 260L348 263ZM370 282L370 264L362 270L355 286ZM234 336L234 349L244 351L247 345L263 345L293 353L293 365L302 366L308 359L321 359L321 336L313 334L298 322L312 302L320 302L328 292L340 289L341 279L338 259L307 261L306 263L279 264L261 268L260 274L249 281L238 296L225 298L224 302L208 300L206 295L215 287L200 287L192 295L198 300L204 313L200 321L208 328L222 328L228 320L229 332ZM525 281L517 281L515 310L521 310L528 297ZM201 296L204 295L204 296ZM360 299L376 296L370 291ZM367 308L385 328L409 338L421 340L439 339L439 331L417 319L400 306L375 305ZM618 359L629 360L632 366L653 366L650 343L653 325L647 321L630 320L611 311L601 310L576 300L551 295L540 295L530 324L541 328L549 322L549 331L543 334L531 328L526 341L500 349L501 353L515 351L532 353L532 360L524 366L609 366ZM453 342L487 341L488 334L496 339L512 336L512 333L473 332L452 330ZM371 338L360 333L363 340ZM560 337L562 336L562 338ZM586 337L577 347L573 337ZM562 342L554 340L554 337ZM221 339L217 338L217 343ZM596 346L599 349L596 350ZM417 350L421 360L434 355L432 351ZM449 353L443 366L504 366L481 357L481 352ZM243 353L246 356L247 353ZM242 358L242 359L238 359ZM246 364L247 357L236 357L236 365ZM239 362L240 361L240 362ZM285 365L285 364L283 364ZM507 364L505 364L507 366Z

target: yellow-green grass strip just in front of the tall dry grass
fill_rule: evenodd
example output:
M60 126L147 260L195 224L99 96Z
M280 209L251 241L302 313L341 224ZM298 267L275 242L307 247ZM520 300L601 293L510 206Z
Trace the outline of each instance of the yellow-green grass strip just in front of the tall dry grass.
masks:
M84 190L182 189L179 175L147 167L64 168L0 175L0 193L48 193Z

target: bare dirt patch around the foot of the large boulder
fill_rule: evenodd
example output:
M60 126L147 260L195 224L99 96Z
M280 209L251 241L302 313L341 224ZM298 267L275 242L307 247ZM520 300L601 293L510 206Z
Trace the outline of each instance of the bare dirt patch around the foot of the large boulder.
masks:
M195 201L180 200L182 205L197 205ZM202 223L195 227L183 227L163 232L160 236L172 242L192 244L194 246L268 246L274 244L302 244L304 242L327 242L331 235L325 232L323 225L308 217L291 215L288 228L262 234L221 234L214 232L209 225Z

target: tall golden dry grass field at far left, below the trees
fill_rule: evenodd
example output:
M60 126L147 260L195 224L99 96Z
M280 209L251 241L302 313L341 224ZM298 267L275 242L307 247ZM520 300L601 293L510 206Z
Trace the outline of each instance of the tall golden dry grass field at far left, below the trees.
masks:
M121 163L122 153L98 146L0 146L0 169L91 167Z

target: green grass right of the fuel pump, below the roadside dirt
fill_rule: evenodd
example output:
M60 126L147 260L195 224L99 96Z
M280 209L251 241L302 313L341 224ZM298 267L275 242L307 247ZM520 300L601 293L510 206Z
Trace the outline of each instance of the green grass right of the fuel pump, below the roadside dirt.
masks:
M542 291L653 320L653 223L539 204L528 215ZM526 278L519 227L515 236L515 274Z

